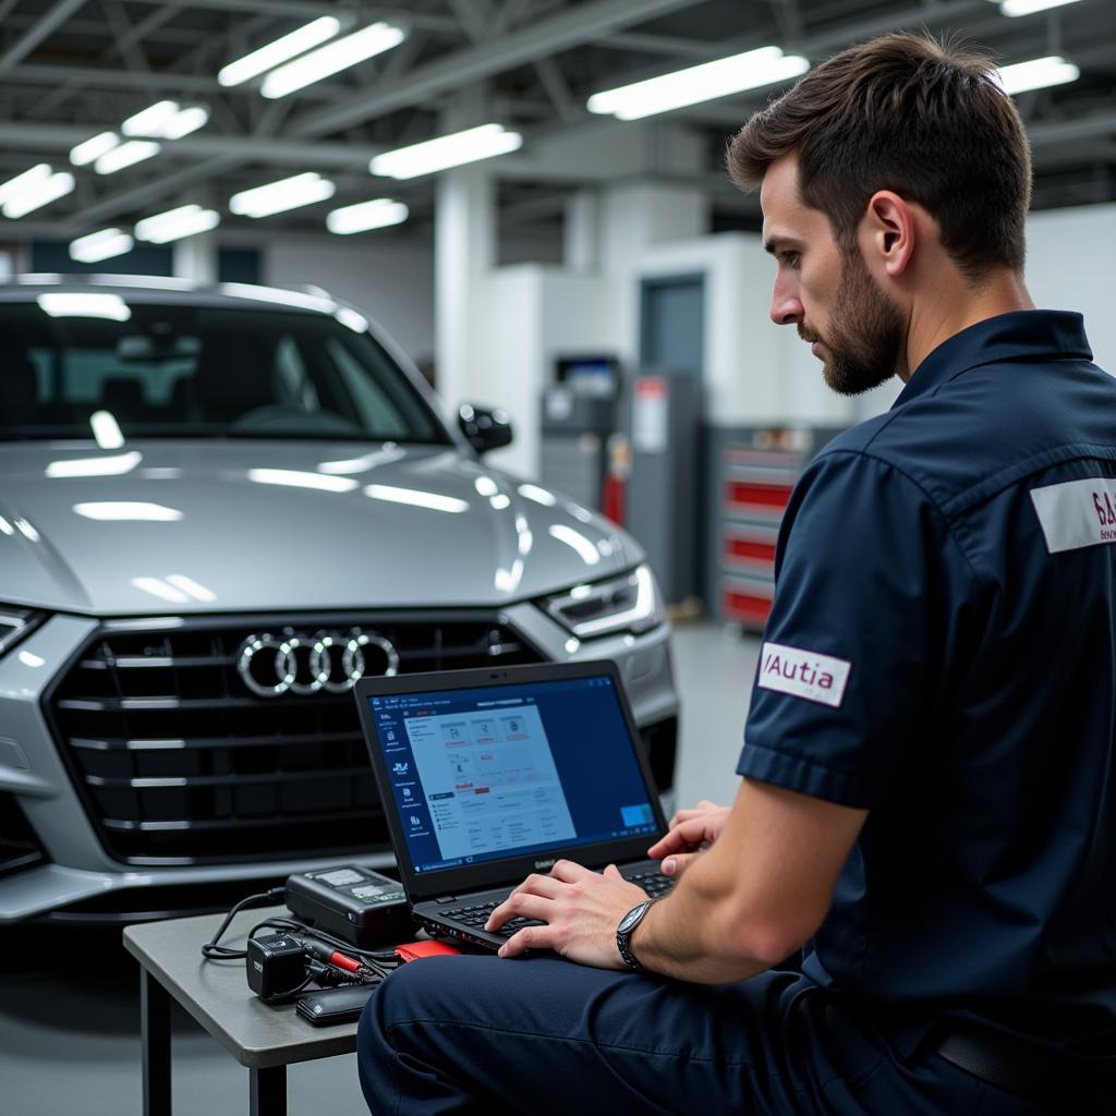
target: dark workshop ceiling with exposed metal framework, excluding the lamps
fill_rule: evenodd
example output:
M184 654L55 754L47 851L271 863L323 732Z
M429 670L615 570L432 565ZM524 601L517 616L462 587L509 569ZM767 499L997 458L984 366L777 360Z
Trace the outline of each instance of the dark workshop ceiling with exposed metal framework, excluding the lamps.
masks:
M354 28L384 19L408 35L281 99L264 99L258 83L218 84L227 62L323 15ZM73 194L22 220L0 219L0 239L71 239L196 201L222 212L227 233L321 231L328 209L389 193L413 215L392 235L421 240L433 181L373 179L369 157L452 122L488 119L523 134L522 158L492 164L501 224L552 235L569 192L607 177L608 145L639 127L591 116L591 93L766 44L820 61L881 31L922 27L960 32L1003 64L1048 54L1076 62L1078 81L1018 98L1035 150L1035 203L1116 200L1112 0L1019 19L990 0L0 0L0 181L41 162L67 169L75 144L160 99L211 112L204 128L146 162L112 175L75 170ZM708 185L723 222L756 212L720 169L724 138L772 92L656 118L673 129L656 134L683 128L696 138L699 165L681 176ZM573 151L583 140L606 152L591 173L577 160L558 170L556 160L547 169L527 158L532 147ZM237 191L300 171L334 180L335 199L261 221L229 214Z

